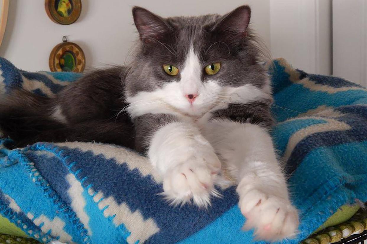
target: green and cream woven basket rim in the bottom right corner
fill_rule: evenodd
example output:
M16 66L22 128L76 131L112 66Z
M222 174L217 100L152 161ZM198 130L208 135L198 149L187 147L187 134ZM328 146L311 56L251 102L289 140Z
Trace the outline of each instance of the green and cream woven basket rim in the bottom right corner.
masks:
M329 244L360 234L367 230L367 209L360 209L348 221L336 226L328 227L301 241L302 244Z

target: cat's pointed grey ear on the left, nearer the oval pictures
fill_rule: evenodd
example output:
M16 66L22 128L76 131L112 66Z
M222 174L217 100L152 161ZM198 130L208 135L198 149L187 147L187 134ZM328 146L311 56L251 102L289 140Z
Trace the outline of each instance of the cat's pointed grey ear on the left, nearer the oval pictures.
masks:
M143 43L159 41L171 30L163 18L145 8L135 6L132 8L132 16Z

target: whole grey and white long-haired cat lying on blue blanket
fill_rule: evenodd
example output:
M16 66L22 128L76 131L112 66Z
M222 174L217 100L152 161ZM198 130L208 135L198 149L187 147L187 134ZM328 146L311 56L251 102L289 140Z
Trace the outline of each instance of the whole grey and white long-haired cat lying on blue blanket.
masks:
M140 42L129 67L94 71L53 98L15 90L0 127L14 146L95 140L144 152L174 204L208 206L222 162L238 182L245 228L292 237L298 214L268 132L271 87L250 13L161 18L134 7Z

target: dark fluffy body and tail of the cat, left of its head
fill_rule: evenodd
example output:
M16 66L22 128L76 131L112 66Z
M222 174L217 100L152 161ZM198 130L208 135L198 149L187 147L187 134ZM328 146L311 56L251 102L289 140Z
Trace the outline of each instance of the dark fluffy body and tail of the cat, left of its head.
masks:
M124 67L95 70L68 85L53 98L15 89L0 99L0 130L15 147L47 141L115 143L133 147L133 124L128 115L117 116ZM52 116L59 108L63 119Z

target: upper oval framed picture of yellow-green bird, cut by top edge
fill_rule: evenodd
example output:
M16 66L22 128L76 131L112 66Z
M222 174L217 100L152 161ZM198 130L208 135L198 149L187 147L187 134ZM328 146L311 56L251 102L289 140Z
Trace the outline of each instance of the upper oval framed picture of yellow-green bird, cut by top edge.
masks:
M70 25L80 16L81 0L45 0L45 8L53 22Z

